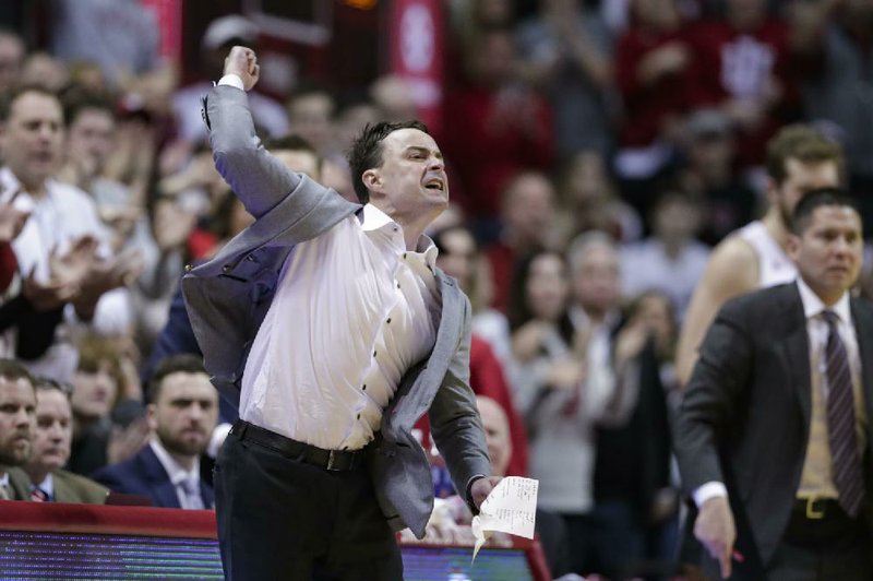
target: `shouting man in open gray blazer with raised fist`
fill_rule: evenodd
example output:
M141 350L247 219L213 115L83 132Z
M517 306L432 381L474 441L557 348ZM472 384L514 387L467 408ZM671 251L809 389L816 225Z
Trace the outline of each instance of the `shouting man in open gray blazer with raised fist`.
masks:
M230 579L400 579L394 532L433 506L411 435L429 413L474 509L497 484L469 376L470 307L424 228L447 205L417 122L368 127L349 165L362 206L261 146L235 47L204 99L216 167L255 223L182 282L214 384L239 405L215 469ZM229 85L229 86L228 86Z

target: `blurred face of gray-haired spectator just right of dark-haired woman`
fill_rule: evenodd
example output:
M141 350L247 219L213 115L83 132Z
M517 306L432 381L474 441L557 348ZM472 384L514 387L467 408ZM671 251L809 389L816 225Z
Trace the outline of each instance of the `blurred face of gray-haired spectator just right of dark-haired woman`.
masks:
M602 316L619 301L619 257L606 245L593 245L575 258L573 297L594 316Z

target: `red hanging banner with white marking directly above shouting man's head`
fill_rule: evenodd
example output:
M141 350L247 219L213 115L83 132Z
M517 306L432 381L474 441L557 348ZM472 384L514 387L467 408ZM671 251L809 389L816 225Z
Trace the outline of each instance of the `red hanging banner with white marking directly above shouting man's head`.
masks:
M441 122L445 20L441 0L393 0L388 68L412 88L420 119L438 131Z

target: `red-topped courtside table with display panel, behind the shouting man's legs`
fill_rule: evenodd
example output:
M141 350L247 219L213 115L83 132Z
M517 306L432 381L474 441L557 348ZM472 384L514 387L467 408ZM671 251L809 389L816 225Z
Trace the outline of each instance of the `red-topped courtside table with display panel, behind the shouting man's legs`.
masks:
M400 541L404 577L549 579L538 542L483 548ZM215 513L151 507L0 502L2 579L222 579Z

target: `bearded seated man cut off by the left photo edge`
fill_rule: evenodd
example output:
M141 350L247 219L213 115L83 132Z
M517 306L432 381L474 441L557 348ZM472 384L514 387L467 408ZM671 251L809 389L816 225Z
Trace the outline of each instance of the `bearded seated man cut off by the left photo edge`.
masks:
M36 394L27 370L0 359L0 500L27 500L27 475L21 466L31 456L36 425Z

